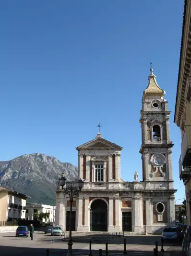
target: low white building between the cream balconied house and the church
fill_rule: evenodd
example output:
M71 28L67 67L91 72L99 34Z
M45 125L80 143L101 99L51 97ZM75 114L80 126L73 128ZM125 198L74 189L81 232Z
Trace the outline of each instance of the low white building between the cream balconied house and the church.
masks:
M53 219L55 218L55 206L52 205L46 205L42 203L26 203L26 219L33 220L34 213L40 214L40 213L49 213L50 216L47 220L43 219L43 222L53 222Z

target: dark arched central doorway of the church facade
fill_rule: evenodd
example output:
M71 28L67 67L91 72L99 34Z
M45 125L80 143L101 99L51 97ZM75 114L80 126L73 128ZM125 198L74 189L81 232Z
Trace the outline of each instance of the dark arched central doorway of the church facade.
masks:
M107 231L107 203L101 199L91 204L90 230Z

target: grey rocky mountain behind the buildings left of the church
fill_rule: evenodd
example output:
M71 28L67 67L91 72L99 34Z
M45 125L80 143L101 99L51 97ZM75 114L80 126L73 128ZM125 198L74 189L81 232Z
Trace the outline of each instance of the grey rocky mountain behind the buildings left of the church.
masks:
M0 185L31 197L27 202L52 204L61 173L67 180L77 177L77 167L41 153L0 162Z

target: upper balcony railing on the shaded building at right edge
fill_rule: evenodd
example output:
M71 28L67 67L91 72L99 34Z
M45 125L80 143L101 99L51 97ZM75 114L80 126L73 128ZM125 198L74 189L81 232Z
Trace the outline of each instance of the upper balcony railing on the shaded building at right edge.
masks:
M189 167L189 165L191 165L191 125L185 126L181 143L181 152L183 166Z

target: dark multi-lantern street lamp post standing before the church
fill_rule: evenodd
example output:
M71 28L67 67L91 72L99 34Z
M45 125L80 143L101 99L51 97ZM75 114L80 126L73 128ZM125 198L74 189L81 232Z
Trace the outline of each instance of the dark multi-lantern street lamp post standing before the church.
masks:
M64 177L64 174L62 173L61 178L59 179L59 184L61 189L64 190L64 193L69 195L70 198L70 229L67 256L72 256L72 202L73 197L77 196L78 192L81 191L81 189L83 189L84 181L82 179L79 179L78 181L66 182L66 177Z

